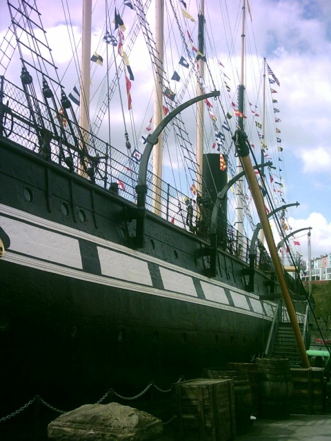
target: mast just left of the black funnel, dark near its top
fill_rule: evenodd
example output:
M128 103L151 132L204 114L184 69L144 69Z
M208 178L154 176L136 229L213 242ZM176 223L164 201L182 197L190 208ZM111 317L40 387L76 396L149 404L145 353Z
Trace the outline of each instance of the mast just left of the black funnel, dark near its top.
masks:
M204 50L204 25L205 25L205 2L201 0L201 11L198 15L199 19L199 53L203 54ZM198 54L198 71L200 79L205 79L205 62L203 57ZM198 58L199 57L199 58ZM203 85L201 85L200 81L197 81L197 96L201 96L203 94ZM204 103L202 101L198 101L197 103L197 195L202 196L202 174L203 174L203 116L204 116Z

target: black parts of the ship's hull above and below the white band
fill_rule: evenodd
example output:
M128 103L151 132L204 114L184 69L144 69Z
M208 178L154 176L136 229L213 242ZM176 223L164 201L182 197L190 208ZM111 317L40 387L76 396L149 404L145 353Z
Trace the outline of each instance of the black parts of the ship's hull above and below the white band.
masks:
M81 274L101 276L97 245L82 234L130 252L135 234L133 203L14 143L0 142L0 203L77 230ZM27 188L32 201L24 197ZM69 215L63 214L63 203ZM83 221L80 210L86 216ZM195 257L205 245L193 234L146 214L146 247L140 251L150 258L152 288L164 289L157 259L192 271L197 296L205 300L199 279L208 269L208 258ZM217 280L228 291L245 289L245 268L240 260L219 252ZM0 272L0 417L36 394L69 410L96 402L110 387L134 396L150 380L168 389L180 376L201 376L203 367L248 362L263 351L271 325L270 317L254 311L239 313L177 300L166 292L153 295L101 285L3 258ZM257 271L256 294L268 292L266 281Z

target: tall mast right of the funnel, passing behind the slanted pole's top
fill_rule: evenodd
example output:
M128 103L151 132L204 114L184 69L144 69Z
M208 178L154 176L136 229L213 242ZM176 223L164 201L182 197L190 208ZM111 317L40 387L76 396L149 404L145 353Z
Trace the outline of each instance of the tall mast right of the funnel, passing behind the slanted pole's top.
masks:
M242 32L241 32L241 77L240 77L240 85L238 88L238 110L241 114L244 114L244 55L245 55L245 0L243 0L243 21L242 21ZM238 117L238 126L240 130L244 130L244 121L243 116ZM243 167L241 166L240 158L237 158L237 174L243 171ZM243 238L243 178L239 178L237 181L237 212L236 212L236 228L238 232L238 243L241 245Z

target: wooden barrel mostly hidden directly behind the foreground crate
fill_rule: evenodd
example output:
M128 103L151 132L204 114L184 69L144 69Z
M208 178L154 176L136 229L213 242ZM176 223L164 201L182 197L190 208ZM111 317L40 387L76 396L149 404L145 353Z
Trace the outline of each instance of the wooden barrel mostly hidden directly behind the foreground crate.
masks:
M234 386L234 408L237 433L242 434L251 427L252 391L248 375L244 371L223 371L219 368L203 369L203 378L232 379Z

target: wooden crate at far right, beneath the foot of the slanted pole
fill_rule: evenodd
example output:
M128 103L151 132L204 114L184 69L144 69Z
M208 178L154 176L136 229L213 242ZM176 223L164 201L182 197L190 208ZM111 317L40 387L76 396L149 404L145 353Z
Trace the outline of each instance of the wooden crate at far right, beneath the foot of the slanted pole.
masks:
M321 415L325 410L324 369L292 367L293 395L291 413Z

